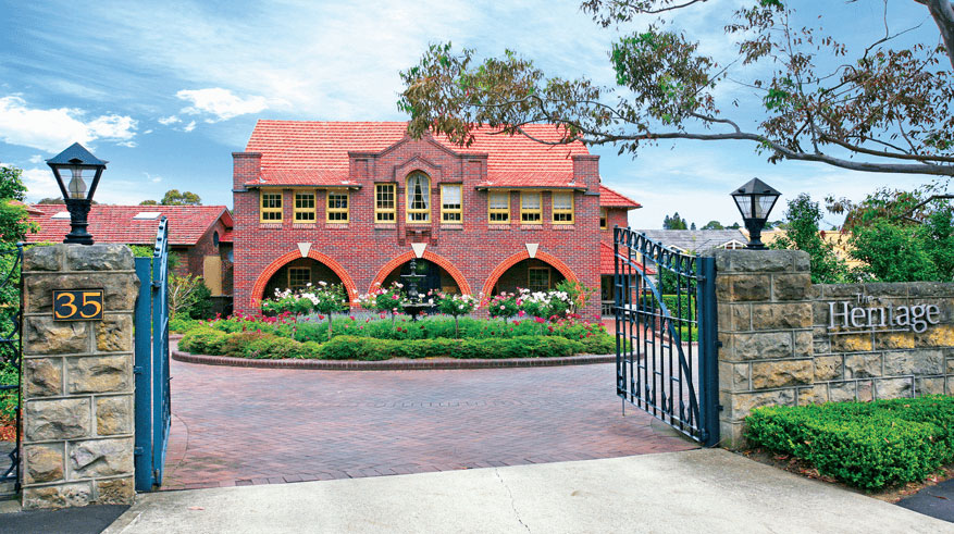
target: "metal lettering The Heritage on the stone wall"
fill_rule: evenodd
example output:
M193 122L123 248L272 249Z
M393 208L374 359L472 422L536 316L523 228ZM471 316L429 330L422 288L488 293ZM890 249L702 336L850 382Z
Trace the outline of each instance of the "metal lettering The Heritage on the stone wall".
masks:
M855 294L855 300L828 303L828 331L831 335L863 332L916 332L941 322L937 305L880 305L875 297Z

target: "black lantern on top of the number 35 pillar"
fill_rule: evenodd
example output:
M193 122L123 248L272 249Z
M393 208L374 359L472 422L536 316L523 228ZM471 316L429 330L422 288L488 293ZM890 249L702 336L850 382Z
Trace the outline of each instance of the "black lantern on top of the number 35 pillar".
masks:
M63 243L92 245L92 236L86 232L89 225L87 218L96 186L99 185L99 177L106 170L107 163L109 162L92 156L78 142L74 142L66 150L47 160L47 164L53 170L53 176L57 177L60 191L63 193L66 210L70 211L72 229L66 234ZM64 178L63 173L67 171L70 176Z

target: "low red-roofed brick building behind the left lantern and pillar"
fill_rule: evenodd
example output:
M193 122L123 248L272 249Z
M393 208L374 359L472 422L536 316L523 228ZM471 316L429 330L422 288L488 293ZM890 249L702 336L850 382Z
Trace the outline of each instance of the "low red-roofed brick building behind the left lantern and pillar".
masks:
M33 204L30 221L39 232L28 243L61 243L70 233L64 204ZM176 274L205 278L213 297L232 295L232 213L224 206L108 206L89 210L89 227L96 243L156 245L160 218L169 220L169 246L181 261ZM226 305L220 308L227 309Z

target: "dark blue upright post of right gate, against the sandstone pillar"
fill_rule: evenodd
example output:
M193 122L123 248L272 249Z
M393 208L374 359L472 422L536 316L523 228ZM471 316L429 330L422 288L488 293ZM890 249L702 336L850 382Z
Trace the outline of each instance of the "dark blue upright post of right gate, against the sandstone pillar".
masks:
M702 280L698 288L699 319L699 419L705 430L706 447L719 443L719 348L716 312L716 259L699 258Z

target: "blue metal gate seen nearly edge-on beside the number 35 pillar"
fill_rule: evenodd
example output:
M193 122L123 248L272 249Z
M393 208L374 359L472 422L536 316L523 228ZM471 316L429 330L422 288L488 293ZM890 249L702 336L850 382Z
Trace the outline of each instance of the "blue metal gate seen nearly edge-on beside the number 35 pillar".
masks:
M169 223L159 222L152 258L136 258L136 490L162 485L172 410L169 392Z

